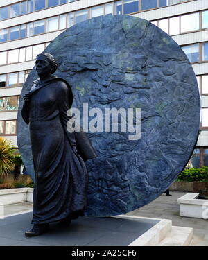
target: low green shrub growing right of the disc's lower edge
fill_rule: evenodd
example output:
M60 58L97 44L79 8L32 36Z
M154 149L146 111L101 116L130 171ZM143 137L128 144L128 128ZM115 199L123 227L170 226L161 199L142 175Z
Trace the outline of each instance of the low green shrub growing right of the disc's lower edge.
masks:
M208 167L185 169L178 175L177 180L208 182Z

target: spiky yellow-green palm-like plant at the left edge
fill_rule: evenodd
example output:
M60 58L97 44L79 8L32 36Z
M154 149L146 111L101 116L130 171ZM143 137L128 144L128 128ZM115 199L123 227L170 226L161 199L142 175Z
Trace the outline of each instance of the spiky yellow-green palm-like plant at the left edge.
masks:
M4 176L12 171L14 150L16 150L16 148L12 146L12 141L0 137L0 176Z

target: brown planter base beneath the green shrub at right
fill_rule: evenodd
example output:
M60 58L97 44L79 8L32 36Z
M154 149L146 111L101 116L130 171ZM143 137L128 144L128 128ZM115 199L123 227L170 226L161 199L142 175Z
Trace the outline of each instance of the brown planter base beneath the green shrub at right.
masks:
M200 192L208 195L208 182L173 182L170 191Z

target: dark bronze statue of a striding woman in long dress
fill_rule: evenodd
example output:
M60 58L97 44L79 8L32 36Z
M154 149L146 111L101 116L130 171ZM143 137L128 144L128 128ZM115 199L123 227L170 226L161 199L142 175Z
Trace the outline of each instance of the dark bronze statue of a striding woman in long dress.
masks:
M51 54L37 55L35 68L40 78L24 96L21 110L29 125L35 168L33 228L26 236L46 232L54 221L69 225L71 219L83 216L86 207L86 158L80 156L79 137L67 131L73 96L67 81L52 75L57 67ZM87 150L87 159L96 157L89 141L83 150Z

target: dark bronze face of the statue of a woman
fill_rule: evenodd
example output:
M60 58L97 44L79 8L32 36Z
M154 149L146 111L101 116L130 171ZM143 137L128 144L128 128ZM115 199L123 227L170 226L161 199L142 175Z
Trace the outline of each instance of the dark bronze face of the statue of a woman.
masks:
M41 78L50 75L52 67L49 60L44 55L39 55L35 61L35 69L38 76Z

